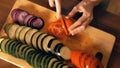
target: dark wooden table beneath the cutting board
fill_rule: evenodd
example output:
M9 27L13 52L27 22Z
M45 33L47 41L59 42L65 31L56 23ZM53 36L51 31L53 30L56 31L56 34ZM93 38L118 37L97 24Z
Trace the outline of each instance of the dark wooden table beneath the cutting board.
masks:
M4 0L2 0L4 2ZM48 4L46 4L46 0L31 0L35 3L44 5L46 7L49 7ZM2 3L2 2L1 2ZM8 4L9 2L4 2L6 4ZM4 22L6 20L7 14L9 13L11 7L14 4L14 0L11 2L10 5L6 4L0 4L2 6L7 7L5 10L4 9L0 9L0 10L4 10L4 11L0 11L0 14L4 16L4 18L0 17L0 23ZM66 13L69 11L69 9L67 10L66 8L68 8L67 6L63 9L65 9ZM70 8L71 9L71 8ZM64 12L64 14L66 14ZM94 20L93 22L97 22L97 23L91 23L90 25L97 27L99 29L102 29L104 31L107 31L113 35L116 36L117 40L116 43L114 45L113 51L112 51L112 55L110 57L109 63L108 63L108 68L119 68L119 63L120 63L120 17L116 16L114 14L108 13L106 11L103 10L96 10L94 15ZM6 17L5 17L6 16ZM1 26L0 26L1 27Z

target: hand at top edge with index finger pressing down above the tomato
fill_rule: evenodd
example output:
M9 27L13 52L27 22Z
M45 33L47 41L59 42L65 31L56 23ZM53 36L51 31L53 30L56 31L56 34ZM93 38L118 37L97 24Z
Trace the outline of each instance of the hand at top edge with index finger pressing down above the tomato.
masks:
M61 2L60 0L48 0L50 7L56 7L56 12L57 12L57 19L59 19L61 15Z

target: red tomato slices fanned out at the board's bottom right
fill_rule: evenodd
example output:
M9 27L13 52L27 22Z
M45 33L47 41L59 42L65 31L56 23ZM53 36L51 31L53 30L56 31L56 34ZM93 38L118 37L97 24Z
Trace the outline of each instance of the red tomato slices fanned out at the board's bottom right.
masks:
M101 62L87 52L72 51L71 61L78 68L103 68Z

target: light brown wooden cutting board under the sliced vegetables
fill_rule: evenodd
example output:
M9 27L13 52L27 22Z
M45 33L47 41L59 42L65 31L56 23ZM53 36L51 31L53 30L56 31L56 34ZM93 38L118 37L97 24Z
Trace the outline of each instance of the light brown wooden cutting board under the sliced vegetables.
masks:
M16 3L14 4L12 9L15 8L20 8L28 11L30 14L34 14L38 17L42 17L43 20L45 21L45 26L40 31L43 32L46 32L48 23L51 23L56 20L56 16L55 16L56 13L54 11L42 7L38 4L32 3L28 0L16 0ZM13 23L10 14L1 29L0 37L6 36L3 28L7 23ZM110 58L110 54L112 52L112 48L114 46L115 37L102 30L99 30L92 26L88 26L84 32L70 39L68 38L61 40L61 42L63 42L64 45L68 46L72 50L77 50L77 49L83 50L90 52L93 55L96 55L97 52L101 52L103 54L103 58L101 62L103 63L104 68L106 68L108 60ZM22 66L25 68L28 68L28 66L29 68L31 67L24 60L14 58L13 56L9 56L8 54L2 52L0 52L0 57L18 66Z

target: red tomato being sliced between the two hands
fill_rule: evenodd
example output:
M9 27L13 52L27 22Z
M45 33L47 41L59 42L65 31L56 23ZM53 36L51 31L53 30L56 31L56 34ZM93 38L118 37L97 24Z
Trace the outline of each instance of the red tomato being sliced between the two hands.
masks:
M63 28L65 27L65 24L63 24L62 18L60 18L59 20L49 24L47 28L48 34L53 35L58 39L64 39L68 35L70 35L68 32L68 27L72 24L72 20L66 18L64 18L64 20L65 20L66 28Z

